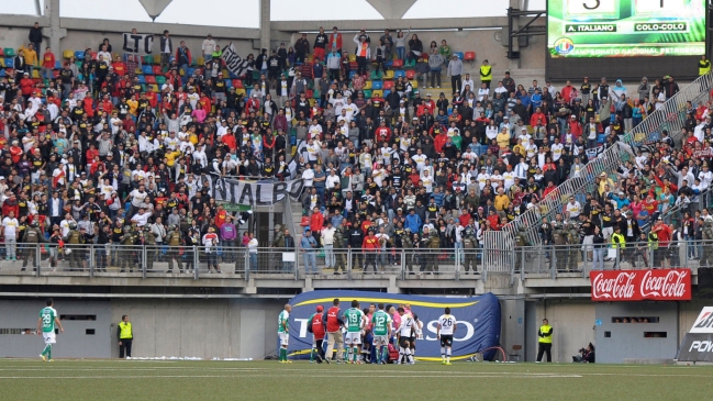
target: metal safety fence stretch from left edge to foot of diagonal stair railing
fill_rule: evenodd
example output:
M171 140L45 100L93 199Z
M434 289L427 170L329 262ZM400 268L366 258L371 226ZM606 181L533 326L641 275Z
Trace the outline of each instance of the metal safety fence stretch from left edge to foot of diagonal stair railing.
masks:
M80 277L250 278L299 280L341 276L347 280L480 279L481 249L294 248L140 246L118 244L18 244L0 247L0 275Z

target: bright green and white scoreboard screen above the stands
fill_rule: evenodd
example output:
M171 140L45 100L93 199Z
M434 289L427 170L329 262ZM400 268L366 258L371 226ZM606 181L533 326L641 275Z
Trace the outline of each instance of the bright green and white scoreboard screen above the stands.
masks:
M553 58L705 54L706 0L547 0Z

